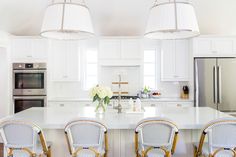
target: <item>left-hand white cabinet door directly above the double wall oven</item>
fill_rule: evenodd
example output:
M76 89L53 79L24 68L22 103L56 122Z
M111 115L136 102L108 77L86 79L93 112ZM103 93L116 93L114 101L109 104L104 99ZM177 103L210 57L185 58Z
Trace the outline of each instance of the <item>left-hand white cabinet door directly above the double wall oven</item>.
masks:
M11 43L13 59L32 58L32 45L30 39L13 39Z

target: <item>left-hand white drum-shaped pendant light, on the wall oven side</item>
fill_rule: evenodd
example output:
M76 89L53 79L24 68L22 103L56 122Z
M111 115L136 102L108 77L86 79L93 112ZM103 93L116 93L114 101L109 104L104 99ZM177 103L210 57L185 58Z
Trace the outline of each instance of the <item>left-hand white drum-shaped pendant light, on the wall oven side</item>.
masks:
M41 36L61 40L78 40L94 36L89 9L72 0L52 2L45 12Z

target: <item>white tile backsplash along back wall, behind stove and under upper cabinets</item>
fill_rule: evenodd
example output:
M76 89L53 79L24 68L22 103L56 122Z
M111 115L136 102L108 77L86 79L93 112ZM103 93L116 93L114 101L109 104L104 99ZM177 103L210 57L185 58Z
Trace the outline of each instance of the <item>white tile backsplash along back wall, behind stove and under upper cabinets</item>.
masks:
M102 67L99 82L102 85L111 87L112 91L118 91L118 85L112 85L112 82L118 82L118 75L121 75L121 81L128 82L128 85L122 85L121 91L129 92L128 95L137 95L143 88L140 77L140 67ZM162 97L179 98L182 87L191 85L189 82L162 82L157 78L157 89ZM88 99L89 91L82 90L80 82L49 82L49 98L78 98Z

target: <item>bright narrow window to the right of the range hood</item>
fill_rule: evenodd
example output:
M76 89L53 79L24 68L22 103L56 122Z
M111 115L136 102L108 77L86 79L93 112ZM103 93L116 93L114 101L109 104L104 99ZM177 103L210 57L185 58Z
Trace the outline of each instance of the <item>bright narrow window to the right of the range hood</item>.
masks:
M156 88L156 51L144 51L144 64L143 64L143 85L150 88Z

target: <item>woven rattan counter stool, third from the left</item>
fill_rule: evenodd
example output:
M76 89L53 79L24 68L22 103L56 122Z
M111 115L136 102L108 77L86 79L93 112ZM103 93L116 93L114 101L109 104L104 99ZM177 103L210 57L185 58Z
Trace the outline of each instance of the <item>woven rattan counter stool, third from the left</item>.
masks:
M171 157L178 137L177 126L165 118L146 118L135 129L136 157Z

